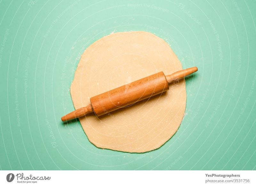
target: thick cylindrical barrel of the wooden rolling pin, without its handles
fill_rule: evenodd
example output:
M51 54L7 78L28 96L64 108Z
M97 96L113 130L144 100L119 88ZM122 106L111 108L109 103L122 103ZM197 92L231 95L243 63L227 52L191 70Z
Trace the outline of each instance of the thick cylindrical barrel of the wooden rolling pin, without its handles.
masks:
M94 96L91 98L91 104L94 113L100 116L167 90L169 90L169 85L164 72L158 72L146 78Z

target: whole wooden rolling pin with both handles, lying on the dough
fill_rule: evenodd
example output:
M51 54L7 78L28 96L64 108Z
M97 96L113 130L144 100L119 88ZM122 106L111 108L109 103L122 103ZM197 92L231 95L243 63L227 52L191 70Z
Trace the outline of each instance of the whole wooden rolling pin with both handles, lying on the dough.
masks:
M90 112L94 112L97 116L107 114L118 108L123 108L140 100L163 93L169 90L170 83L182 79L196 71L197 67L192 67L167 76L164 75L164 72L158 72L146 78L94 96L90 99L91 104L63 116L61 120L63 122L68 121L84 116Z

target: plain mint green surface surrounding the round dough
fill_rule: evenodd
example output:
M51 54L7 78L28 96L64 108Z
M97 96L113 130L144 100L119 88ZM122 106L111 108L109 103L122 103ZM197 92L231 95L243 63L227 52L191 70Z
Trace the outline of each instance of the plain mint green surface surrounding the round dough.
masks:
M256 169L255 1L73 3L0 1L0 169ZM69 87L84 49L136 30L163 38L183 68L199 71L187 79L186 115L171 140L149 153L102 150L60 117L74 109Z

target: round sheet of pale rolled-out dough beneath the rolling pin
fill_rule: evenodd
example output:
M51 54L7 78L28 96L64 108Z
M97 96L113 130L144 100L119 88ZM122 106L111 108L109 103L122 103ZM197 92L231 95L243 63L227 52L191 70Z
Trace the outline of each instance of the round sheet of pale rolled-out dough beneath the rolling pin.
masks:
M113 33L88 47L77 66L70 92L76 109L90 97L163 71L182 70L170 46L148 32ZM103 149L143 153L162 146L178 130L186 108L185 80L161 96L97 117L79 118L92 144Z

